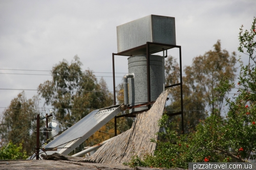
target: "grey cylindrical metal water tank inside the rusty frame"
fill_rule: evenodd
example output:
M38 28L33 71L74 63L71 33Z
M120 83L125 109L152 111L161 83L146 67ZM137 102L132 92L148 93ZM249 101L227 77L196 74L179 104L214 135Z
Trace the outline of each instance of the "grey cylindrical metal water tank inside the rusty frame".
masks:
M147 102L147 72L146 55L138 55L128 58L129 74L134 78L128 79L130 106ZM151 101L155 101L164 90L164 57L150 55L150 86ZM142 106L130 110L130 113L147 109Z

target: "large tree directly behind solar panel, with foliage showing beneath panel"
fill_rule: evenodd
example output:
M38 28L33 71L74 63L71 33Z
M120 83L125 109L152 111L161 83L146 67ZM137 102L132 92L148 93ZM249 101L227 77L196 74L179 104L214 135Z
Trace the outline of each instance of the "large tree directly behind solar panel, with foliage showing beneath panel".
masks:
M62 127L72 126L93 110L113 105L113 94L106 82L102 78L98 82L91 70L82 71L81 66L77 55L70 64L63 60L53 66L52 80L38 86L38 94L45 99L45 105L53 106L56 118L62 121ZM124 127L122 131L127 130L127 121L119 122L119 126ZM109 135L96 132L71 154L113 137L114 119L100 131L108 132Z

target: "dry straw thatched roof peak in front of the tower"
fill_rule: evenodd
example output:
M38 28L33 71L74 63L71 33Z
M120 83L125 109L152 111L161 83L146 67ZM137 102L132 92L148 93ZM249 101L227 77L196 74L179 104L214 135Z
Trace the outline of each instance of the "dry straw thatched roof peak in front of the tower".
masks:
M114 137L105 143L92 156L80 161L95 163L122 164L129 162L131 157L137 154L154 154L156 143L151 139L157 139L159 132L158 120L161 118L169 90L159 95L152 108L138 114L130 130Z

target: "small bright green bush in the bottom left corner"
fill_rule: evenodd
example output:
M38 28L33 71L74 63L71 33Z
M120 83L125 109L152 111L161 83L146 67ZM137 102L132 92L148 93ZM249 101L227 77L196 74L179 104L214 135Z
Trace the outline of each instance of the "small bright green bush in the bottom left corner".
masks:
M22 143L19 146L13 144L12 141L0 149L0 159L27 159L27 152L23 150Z

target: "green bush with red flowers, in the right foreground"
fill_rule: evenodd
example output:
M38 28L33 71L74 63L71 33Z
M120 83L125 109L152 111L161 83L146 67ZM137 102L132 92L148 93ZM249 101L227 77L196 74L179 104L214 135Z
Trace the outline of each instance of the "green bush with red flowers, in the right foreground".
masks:
M243 26L240 28L238 50L249 56L249 62L244 65L241 57L239 59L241 71L238 87L224 77L221 86L216 89L221 92L219 97L226 100L229 111L225 117L216 109L200 121L196 131L178 135L167 125L168 116L163 115L159 126L166 132L159 132L158 135L167 142L152 140L157 143L154 155L145 154L142 158L135 155L130 166L188 168L188 162L247 162L256 159L253 154L256 151L255 23L254 17L249 31L243 31ZM228 98L226 93L230 88L238 89L240 93Z

